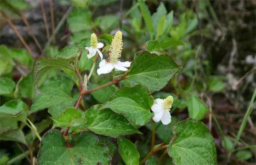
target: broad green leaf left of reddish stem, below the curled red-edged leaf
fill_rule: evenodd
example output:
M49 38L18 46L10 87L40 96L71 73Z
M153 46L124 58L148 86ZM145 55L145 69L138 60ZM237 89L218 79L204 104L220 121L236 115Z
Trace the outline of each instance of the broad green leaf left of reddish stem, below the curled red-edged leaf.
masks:
M49 108L51 106L62 106L65 103L75 102L71 97L74 83L67 77L53 77L40 87L43 94L36 94L30 107L30 114ZM69 105L69 107L72 105ZM64 109L63 109L64 110Z

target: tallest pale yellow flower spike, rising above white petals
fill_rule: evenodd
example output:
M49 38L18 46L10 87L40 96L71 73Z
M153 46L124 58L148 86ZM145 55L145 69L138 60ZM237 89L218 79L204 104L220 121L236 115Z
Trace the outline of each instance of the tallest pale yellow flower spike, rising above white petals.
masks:
M109 48L108 62L116 63L122 53L122 32L117 31Z

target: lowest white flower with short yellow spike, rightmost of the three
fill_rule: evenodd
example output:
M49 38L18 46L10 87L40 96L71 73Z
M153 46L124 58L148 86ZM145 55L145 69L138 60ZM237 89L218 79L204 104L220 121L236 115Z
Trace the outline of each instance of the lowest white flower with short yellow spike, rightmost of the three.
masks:
M166 99L156 99L154 105L151 106L151 110L154 112L154 117L152 118L155 122L161 122L164 125L171 123L170 108L173 104L173 96L168 96Z

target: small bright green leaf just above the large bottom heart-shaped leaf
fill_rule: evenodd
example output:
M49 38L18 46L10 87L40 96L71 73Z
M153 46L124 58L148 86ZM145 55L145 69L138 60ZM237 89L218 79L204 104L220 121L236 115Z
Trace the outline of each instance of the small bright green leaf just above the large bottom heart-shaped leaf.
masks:
M61 112L58 117L52 117L57 126L78 127L85 123L85 115L82 110L67 108Z

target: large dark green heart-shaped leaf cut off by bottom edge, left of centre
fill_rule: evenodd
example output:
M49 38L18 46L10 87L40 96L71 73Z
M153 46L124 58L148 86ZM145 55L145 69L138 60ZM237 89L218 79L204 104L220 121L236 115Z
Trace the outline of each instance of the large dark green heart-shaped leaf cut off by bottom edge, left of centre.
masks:
M37 161L39 165L49 164L109 164L111 156L104 143L91 132L82 132L78 139L65 141L61 132L51 129L43 136Z

